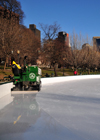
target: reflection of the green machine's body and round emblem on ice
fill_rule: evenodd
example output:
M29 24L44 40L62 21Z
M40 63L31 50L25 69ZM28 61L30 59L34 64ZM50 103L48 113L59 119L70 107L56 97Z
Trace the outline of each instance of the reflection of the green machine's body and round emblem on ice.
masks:
M18 96L13 99L13 116L24 115L24 117L37 117L40 113L39 105L35 95ZM28 118L29 119L29 118ZM30 120L30 119L29 119Z

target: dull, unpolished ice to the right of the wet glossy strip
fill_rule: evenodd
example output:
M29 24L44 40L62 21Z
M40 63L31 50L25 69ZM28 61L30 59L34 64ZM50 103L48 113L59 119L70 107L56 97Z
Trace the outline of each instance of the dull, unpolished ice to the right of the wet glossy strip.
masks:
M42 87L37 102L59 124L79 137L100 140L100 79L61 82Z

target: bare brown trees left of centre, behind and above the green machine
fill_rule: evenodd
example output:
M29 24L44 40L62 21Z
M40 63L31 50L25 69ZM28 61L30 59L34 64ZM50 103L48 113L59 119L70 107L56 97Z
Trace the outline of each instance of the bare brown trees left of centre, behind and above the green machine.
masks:
M14 18L0 17L0 58L5 59L6 63L13 55L18 62L17 51L20 50L20 60L23 63L25 55L28 56L28 62L36 64L38 58L38 50L40 49L40 40L34 33L22 25L24 13L21 10L20 2L17 0L0 0L0 5L10 12L19 14L19 21Z

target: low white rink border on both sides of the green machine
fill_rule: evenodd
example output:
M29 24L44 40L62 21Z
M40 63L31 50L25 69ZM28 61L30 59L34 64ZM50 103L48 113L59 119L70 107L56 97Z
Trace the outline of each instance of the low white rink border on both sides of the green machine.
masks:
M77 75L77 76L63 76L63 77L49 77L49 78L41 78L42 86L52 85L58 82L66 82L72 80L83 80L83 79L96 79L100 78L100 75ZM13 87L13 83L7 83L0 85L0 98L5 95L11 94L11 88Z

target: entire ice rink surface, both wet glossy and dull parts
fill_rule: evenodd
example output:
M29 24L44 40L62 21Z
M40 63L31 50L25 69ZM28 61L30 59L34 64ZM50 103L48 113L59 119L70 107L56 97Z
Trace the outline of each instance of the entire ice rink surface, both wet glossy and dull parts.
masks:
M47 84L36 97L14 98L0 110L0 140L100 140L100 79Z

